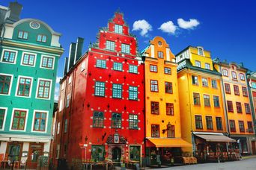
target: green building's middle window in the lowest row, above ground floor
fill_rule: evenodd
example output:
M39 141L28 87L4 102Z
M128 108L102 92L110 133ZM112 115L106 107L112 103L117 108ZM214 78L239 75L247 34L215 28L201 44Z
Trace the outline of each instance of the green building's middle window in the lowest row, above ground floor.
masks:
M25 130L25 117L27 112L25 110L14 110L12 130Z

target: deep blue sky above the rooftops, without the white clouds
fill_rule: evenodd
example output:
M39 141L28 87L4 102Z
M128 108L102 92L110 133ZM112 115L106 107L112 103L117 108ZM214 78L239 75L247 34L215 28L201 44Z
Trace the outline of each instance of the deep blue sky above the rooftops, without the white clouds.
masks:
M7 6L9 2L1 1L1 5ZM244 66L256 71L256 3L253 0L159 2L161 4L138 0L19 0L23 5L21 18L43 20L62 34L60 41L65 51L58 65L58 77L63 74L70 42L76 42L77 37L85 38L85 51L90 42L95 42L99 28L106 27L118 8L124 13L130 32L137 36L140 50L153 37L161 36L174 54L188 45L200 45L211 51L213 58L243 62ZM189 19L195 20L189 22ZM132 31L134 22L139 20L144 22L137 22L138 28L145 31L151 27L143 36L141 31ZM165 27L161 30L163 23Z

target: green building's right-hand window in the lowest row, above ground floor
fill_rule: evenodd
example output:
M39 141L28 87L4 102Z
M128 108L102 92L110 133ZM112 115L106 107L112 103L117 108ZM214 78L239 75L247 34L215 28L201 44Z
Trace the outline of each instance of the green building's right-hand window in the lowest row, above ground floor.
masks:
M46 130L46 116L47 113L35 112L34 113L34 131L45 131Z

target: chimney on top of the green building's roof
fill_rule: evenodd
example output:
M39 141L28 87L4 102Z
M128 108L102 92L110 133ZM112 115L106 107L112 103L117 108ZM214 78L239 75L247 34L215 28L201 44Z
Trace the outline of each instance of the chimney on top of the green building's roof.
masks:
M19 4L17 1L10 2L9 10L10 10L10 16L8 20L11 22L19 21L19 15L22 11L22 4Z

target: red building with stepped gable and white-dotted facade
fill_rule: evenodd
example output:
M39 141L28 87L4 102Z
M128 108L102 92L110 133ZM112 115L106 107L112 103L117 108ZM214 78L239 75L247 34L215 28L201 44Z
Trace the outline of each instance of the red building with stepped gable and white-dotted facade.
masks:
M136 39L122 13L115 13L97 39L85 54L81 38L70 45L60 83L53 155L69 166L81 160L141 162L144 65L137 58Z

